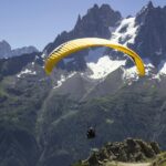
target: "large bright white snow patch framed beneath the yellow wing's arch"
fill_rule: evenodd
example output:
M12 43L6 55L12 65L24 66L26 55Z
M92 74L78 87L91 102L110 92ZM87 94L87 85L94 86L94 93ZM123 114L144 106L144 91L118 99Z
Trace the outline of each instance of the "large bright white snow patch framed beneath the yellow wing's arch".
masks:
M89 62L87 68L92 71L90 79L104 79L106 75L125 64L125 60L111 60L108 55L102 56L96 63Z

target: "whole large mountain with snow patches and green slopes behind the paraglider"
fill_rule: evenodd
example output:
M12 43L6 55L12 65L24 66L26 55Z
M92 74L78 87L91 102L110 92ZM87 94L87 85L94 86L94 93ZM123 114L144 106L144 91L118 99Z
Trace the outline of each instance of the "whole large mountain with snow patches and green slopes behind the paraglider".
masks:
M69 166L86 158L91 148L126 137L155 141L165 149L165 10L149 2L135 17L122 18L108 4L95 4L42 53L1 59L0 165ZM48 53L83 37L134 49L146 75L138 77L122 53L96 48L70 55L48 76ZM96 126L96 138L89 142L91 125Z

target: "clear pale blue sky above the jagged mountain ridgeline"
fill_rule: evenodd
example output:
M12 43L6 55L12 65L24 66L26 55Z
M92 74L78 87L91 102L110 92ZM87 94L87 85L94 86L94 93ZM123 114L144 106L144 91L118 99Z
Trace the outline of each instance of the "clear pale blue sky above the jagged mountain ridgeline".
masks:
M166 0L152 0L166 6ZM108 3L123 17L135 14L148 0L0 0L0 41L12 49L34 45L42 50L56 34L70 31L94 3Z

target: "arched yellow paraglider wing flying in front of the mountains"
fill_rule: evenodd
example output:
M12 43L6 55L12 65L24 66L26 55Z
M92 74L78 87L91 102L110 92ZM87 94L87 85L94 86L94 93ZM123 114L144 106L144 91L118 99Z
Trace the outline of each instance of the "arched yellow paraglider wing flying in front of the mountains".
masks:
M69 42L65 42L54 49L52 53L49 55L49 58L45 61L45 72L50 74L54 68L54 65L61 61L63 58L70 55L71 53L74 53L76 51L91 48L91 46L107 46L115 49L117 51L121 51L125 54L127 54L132 60L135 62L137 66L138 74L141 76L145 75L145 68L142 59L131 49L123 46L117 43L112 43L110 40L106 39L100 39L100 38L82 38L82 39L75 39L71 40Z

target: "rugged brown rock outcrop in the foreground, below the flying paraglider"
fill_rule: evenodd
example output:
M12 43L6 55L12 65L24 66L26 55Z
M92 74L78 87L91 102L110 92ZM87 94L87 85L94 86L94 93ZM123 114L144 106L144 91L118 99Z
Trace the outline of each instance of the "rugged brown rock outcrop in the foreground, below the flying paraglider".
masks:
M143 162L160 153L157 143L146 143L142 139L127 138L124 142L108 143L98 152L93 153L84 164L100 165L104 160Z

